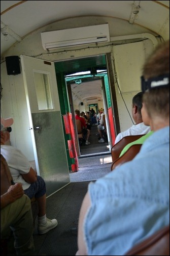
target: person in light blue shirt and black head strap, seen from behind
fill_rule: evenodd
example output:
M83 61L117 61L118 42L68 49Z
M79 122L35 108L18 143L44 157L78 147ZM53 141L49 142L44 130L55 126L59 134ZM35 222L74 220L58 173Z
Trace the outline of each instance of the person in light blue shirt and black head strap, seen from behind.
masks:
M89 184L76 255L124 255L169 225L169 41L144 64L141 82L154 133L132 161Z

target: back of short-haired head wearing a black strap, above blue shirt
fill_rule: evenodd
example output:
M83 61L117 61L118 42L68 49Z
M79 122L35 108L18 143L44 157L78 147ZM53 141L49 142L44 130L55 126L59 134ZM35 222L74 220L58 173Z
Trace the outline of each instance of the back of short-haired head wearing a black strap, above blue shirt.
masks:
M148 115L169 118L169 40L158 45L144 64L142 90Z

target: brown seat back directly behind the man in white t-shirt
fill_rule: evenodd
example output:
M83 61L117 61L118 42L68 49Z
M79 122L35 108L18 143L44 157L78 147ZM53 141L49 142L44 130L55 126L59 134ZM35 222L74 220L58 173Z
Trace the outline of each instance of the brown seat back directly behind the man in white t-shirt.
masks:
M118 143L116 143L112 148L111 148L111 155L112 155L112 161L114 162L116 159L119 158L121 151L123 148L129 144L132 141L138 140L145 134L140 134L140 135L130 135L130 136L125 136L123 137Z

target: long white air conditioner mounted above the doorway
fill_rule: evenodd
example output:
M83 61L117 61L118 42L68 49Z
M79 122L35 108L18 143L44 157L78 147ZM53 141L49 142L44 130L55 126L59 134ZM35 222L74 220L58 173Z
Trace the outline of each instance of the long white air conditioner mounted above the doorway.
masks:
M109 24L41 33L45 50L80 44L110 42Z

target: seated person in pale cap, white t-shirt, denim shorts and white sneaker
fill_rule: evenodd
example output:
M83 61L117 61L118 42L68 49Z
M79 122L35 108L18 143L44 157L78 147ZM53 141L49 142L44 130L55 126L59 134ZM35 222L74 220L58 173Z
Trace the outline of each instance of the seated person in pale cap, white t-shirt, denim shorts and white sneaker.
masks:
M3 120L3 123L11 123L12 120ZM3 124L2 123L2 124ZM57 226L56 219L48 219L46 217L46 184L43 178L37 175L36 171L30 166L29 161L23 155L21 150L6 143L10 140L10 132L12 129L1 131L1 153L5 157L11 175L15 183L21 183L24 194L30 199L35 197L39 206L38 213L38 232L45 234Z

